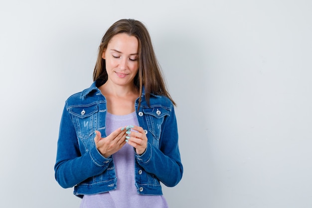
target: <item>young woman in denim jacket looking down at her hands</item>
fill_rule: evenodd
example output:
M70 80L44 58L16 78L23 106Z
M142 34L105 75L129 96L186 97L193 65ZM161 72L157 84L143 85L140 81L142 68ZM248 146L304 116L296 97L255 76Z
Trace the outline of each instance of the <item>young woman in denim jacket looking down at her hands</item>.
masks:
M81 208L166 208L160 182L173 187L183 173L175 103L142 22L107 30L93 80L65 102L56 181Z

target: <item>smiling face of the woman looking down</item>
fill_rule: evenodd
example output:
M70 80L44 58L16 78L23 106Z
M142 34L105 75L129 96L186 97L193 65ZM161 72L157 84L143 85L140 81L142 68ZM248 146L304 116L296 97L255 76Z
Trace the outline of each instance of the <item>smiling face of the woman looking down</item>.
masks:
M119 33L112 37L102 58L106 62L107 82L133 85L139 69L139 42L135 36Z

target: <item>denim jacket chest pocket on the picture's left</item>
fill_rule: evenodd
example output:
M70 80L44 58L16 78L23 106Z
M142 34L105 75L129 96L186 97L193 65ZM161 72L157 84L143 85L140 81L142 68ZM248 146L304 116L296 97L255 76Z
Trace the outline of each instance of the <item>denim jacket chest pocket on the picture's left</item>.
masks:
M78 105L69 108L77 136L83 140L89 139L96 130L98 105ZM93 140L92 140L93 141ZM83 141L85 145L87 141ZM87 145L88 146L88 145ZM90 148L90 147L89 147Z

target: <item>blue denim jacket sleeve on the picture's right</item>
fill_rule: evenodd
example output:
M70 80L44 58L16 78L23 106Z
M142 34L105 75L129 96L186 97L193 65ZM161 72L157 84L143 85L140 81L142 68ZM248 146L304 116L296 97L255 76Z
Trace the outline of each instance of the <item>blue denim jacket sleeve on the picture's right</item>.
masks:
M179 147L177 122L174 107L171 104L170 114L165 116L161 124L159 147L148 142L144 154L136 154L137 162L146 172L154 174L167 187L179 183L183 174Z

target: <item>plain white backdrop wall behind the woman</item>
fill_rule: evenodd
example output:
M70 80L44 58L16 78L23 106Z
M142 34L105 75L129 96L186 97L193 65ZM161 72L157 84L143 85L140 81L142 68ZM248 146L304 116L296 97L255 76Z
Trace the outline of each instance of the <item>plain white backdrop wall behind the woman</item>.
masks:
M0 207L78 208L54 179L65 99L121 18L150 30L177 102L170 208L312 207L311 0L0 0Z

